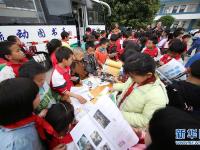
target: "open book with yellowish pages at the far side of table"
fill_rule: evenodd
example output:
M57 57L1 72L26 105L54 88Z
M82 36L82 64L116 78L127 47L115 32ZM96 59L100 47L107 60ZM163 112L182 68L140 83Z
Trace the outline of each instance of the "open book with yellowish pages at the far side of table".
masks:
M103 72L106 72L113 76L119 76L121 67L122 67L121 62L107 59L105 64L103 65Z

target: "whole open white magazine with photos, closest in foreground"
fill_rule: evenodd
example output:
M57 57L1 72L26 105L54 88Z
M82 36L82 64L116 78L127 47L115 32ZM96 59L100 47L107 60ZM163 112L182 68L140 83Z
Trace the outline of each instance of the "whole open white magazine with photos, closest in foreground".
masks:
M70 132L79 150L126 150L139 141L108 96L102 96Z

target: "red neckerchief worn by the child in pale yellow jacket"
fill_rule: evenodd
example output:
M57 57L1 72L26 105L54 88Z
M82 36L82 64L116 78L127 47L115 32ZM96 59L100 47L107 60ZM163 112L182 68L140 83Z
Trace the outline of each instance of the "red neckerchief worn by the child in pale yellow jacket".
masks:
M143 83L139 84L137 87L143 86L143 85L149 84L149 83L154 83L155 81L156 81L156 77L153 75L151 78L145 80ZM123 98L121 99L121 101L120 101L119 104L118 104L118 107L119 107L119 108L121 107L122 103L125 101L126 97L128 97L128 96L132 93L132 91L134 90L135 84L136 84L136 83L133 82L133 83L131 84L131 86L128 88L127 92L124 94Z

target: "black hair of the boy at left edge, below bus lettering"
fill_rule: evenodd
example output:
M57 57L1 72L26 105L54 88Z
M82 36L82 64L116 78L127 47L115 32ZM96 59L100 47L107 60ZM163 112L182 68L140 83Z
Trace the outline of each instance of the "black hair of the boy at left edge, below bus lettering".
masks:
M15 44L14 42L9 42L9 41L0 42L0 57L6 59L6 55L11 54L10 47L14 44Z

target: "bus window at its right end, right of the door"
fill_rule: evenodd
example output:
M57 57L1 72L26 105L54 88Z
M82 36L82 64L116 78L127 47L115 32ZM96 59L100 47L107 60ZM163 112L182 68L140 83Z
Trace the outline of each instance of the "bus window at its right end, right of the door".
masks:
M101 4L87 0L88 24L103 25L105 20L104 8Z

